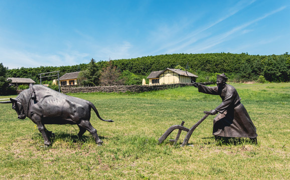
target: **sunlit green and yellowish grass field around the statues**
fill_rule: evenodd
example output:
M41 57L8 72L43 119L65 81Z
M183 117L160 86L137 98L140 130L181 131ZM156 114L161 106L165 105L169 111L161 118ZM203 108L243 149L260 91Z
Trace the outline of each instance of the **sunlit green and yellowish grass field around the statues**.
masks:
M195 129L190 145L169 141L177 130L158 144L171 125L184 120L190 128L204 110L220 104L219 96L195 87L69 94L93 102L103 118L115 120L101 121L92 111L102 146L89 132L78 139L77 125L46 125L56 136L45 147L29 118L18 119L11 104L0 104L0 179L289 179L290 83L231 85L257 128L257 145L247 139L215 141L213 115Z

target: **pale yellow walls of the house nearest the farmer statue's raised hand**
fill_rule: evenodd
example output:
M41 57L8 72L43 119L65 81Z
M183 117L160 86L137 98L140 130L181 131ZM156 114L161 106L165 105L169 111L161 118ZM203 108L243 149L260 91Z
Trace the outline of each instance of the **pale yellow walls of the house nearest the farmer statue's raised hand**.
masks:
M149 79L149 85L154 85L152 83L152 79L156 78L150 78ZM191 80L189 77L184 75L179 75L176 72L173 72L169 69L164 71L162 74L159 75L159 84L170 84L170 83L190 83Z

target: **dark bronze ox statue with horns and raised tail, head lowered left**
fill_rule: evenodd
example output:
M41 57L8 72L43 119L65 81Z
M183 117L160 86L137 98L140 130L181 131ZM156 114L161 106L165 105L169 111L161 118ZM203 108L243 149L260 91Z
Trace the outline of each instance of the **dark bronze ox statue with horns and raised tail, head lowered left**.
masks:
M9 101L0 103L12 103L19 119L25 119L27 116L36 123L45 145L51 145L52 132L48 131L44 124L77 124L80 129L79 137L88 130L96 143L101 145L103 141L89 121L91 108L101 120L113 122L111 119L101 118L90 101L60 93L44 85L30 84L30 88L22 91L15 99L10 98Z

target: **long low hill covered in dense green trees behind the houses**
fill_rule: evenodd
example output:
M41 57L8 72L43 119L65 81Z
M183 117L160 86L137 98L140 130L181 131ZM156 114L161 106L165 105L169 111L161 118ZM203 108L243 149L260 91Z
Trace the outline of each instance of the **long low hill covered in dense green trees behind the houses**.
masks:
M268 81L289 81L290 79L290 55L288 52L281 55L249 55L247 53L200 53L200 54L163 54L144 56L131 59L112 60L121 72L128 70L136 75L148 75L151 71L163 70L166 67L175 68L180 65L197 74L200 79L209 78L216 73L226 73L230 79L257 80L259 76ZM107 61L96 62L99 67L104 67ZM29 77L39 81L39 73L60 70L63 75L66 72L74 72L86 69L87 64L73 66L41 66L36 68L9 69L10 77ZM201 80L202 81L202 80Z

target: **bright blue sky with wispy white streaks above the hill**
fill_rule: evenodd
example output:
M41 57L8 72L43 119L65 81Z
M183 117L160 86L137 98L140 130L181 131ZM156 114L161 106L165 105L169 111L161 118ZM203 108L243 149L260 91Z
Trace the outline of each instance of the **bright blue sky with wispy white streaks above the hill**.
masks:
M0 63L290 51L290 0L0 0Z

